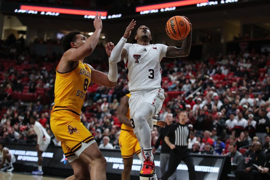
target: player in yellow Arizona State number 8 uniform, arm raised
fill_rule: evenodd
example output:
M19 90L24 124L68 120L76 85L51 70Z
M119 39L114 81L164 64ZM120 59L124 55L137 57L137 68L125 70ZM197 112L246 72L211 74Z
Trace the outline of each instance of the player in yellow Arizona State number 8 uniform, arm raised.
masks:
M73 168L72 179L106 180L106 160L92 134L80 122L80 113L90 81L107 87L117 84L117 66L110 64L108 75L83 63L98 43L102 29L101 14L94 19L95 32L85 40L78 31L64 36L64 54L56 67L55 105L50 125L67 160ZM110 56L110 49L106 49ZM113 72L112 72L113 71ZM91 172L90 172L91 168Z

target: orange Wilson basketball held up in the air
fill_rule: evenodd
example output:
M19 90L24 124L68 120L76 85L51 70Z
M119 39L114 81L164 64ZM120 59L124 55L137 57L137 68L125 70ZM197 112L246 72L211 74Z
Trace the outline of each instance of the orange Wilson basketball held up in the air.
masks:
M166 32L173 40L182 40L186 38L189 31L189 22L183 16L173 16L167 21Z

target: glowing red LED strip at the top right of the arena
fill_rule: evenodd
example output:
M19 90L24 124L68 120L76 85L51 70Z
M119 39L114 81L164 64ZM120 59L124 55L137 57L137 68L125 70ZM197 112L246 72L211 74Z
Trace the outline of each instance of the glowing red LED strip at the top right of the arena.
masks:
M147 6L136 7L136 12L140 12L140 14L148 14L148 13L157 13L159 10L161 12L175 10L176 7L179 6L187 6L192 4L199 3L207 3L208 0L184 0L184 1L175 1L175 2L167 2L162 4L153 4Z

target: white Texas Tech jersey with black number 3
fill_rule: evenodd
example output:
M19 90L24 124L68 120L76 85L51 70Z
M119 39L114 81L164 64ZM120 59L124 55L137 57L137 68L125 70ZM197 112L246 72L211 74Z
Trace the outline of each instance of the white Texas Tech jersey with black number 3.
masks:
M160 61L165 57L164 44L139 45L126 43L124 57L129 91L161 88Z

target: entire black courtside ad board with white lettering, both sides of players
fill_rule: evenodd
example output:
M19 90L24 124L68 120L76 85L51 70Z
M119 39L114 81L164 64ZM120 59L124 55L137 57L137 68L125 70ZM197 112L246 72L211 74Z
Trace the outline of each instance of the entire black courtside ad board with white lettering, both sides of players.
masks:
M10 152L16 157L16 162L14 164L22 166L38 166L38 153L36 152L35 145L6 144L6 147L10 149ZM106 172L109 174L121 175L124 169L124 164L120 150L101 149L101 152L107 161ZM60 146L49 146L46 152L43 152L42 157L43 167L72 171L72 168L67 159L64 157L62 148ZM228 159L226 159L224 156L192 154L192 157L197 180L222 180L225 179L226 174L230 172L230 163L229 161L225 161ZM161 177L159 153L155 154L154 158L157 176ZM137 155L134 155L131 175L139 176L141 167L141 161ZM177 179L188 180L187 166L184 164L184 162L181 162L181 164L179 164L177 167Z

